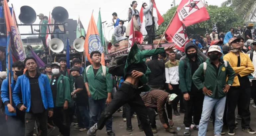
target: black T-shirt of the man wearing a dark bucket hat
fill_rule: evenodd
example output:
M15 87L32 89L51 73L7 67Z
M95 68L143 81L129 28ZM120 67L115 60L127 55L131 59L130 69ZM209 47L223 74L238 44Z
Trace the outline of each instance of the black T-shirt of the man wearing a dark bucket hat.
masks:
M88 105L88 95L83 83L83 77L80 75L75 78L74 83L75 90L78 88L82 88L83 90L76 94L76 98L74 99L77 106L87 106Z

